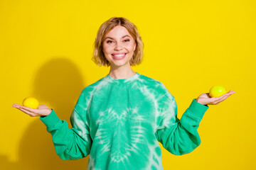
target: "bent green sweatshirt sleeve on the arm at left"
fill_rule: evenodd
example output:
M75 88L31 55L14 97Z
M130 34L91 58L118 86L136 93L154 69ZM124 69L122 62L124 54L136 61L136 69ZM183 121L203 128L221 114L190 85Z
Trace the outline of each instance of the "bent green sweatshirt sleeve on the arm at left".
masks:
M60 120L53 109L50 115L40 118L46 125L46 130L52 135L55 151L61 159L81 159L90 154L92 139L87 116L78 113L81 104L82 96L78 99L71 114L71 129L68 128L67 121Z

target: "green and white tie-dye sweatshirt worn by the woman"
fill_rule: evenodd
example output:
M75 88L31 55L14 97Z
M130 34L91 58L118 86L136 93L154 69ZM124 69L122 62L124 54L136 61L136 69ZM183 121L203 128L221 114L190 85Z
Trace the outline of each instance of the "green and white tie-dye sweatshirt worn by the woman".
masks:
M164 84L137 72L127 79L107 74L86 86L70 117L71 129L53 109L40 119L61 159L90 154L88 170L148 170L163 169L159 142L176 155L200 145L197 129L207 109L193 98L179 120Z

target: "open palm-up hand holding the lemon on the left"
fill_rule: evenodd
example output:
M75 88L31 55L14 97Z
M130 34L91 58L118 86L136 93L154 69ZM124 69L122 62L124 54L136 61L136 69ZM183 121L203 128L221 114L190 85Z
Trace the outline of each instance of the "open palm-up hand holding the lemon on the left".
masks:
M18 108L18 110L23 111L23 113L26 113L31 117L47 116L52 112L51 108L48 108L46 105L39 105L38 108L28 108L14 103L11 107Z

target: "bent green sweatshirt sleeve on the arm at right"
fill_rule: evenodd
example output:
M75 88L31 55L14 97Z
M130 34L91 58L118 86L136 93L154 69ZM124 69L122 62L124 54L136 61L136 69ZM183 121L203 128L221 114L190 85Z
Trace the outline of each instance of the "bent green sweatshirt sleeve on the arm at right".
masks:
M173 98L167 99L161 108L161 123L156 130L156 138L171 154L181 155L192 152L201 144L198 126L208 106L202 105L193 98L191 105L177 118L177 104Z

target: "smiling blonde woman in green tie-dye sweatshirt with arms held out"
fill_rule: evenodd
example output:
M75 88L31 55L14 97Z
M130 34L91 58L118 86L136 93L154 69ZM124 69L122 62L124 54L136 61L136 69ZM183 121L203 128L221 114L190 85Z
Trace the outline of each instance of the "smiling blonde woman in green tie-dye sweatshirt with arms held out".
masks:
M201 143L197 128L208 105L235 92L218 98L201 94L179 120L174 96L164 84L132 70L142 55L136 26L126 18L110 18L98 30L92 57L110 66L110 73L82 90L70 118L73 128L47 106L13 107L40 116L61 159L90 154L87 169L163 169L159 142L172 154L192 152Z

